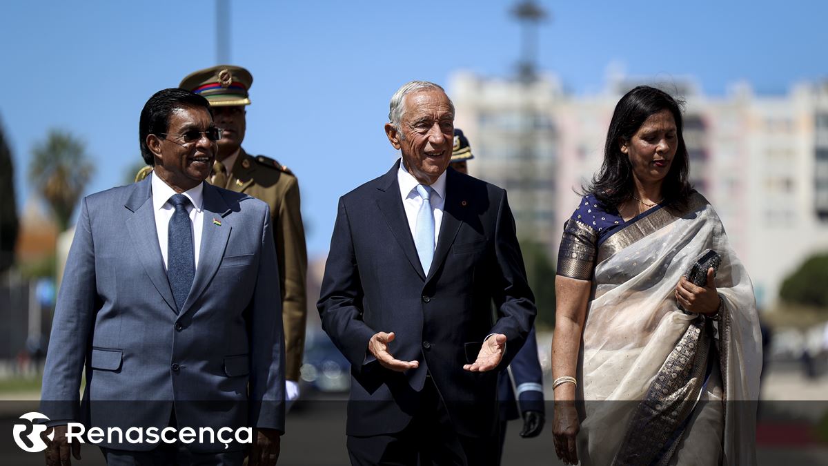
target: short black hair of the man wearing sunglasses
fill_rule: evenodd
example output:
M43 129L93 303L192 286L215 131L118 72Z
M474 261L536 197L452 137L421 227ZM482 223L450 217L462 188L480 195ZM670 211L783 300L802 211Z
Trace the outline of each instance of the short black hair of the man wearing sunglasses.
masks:
M213 110L204 97L184 89L159 90L144 104L138 123L138 142L141 143L141 157L147 165L155 165L155 156L147 147L147 136L166 133L170 129L170 115L173 110L182 107L203 107L213 116Z

